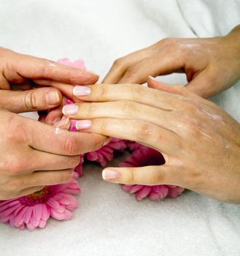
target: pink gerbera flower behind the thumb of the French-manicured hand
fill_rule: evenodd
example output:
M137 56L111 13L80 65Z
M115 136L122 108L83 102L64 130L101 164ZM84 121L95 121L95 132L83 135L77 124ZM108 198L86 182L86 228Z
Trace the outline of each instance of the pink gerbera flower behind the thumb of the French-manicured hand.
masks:
M129 144L128 144L129 145ZM158 151L146 146L139 146L139 143L131 143L131 148L138 148L132 152L131 156L127 157L121 167L141 167L147 165L164 165L165 160L163 155ZM123 185L125 192L136 193L136 199L142 200L144 197L149 197L151 200L162 200L164 197L175 198L183 192L182 187L171 185Z

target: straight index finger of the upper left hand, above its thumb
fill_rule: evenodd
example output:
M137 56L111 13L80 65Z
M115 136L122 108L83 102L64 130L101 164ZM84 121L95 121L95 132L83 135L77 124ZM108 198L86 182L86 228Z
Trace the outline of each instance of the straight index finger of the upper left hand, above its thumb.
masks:
M34 56L15 54L15 71L24 78L55 80L70 84L90 84L98 80L98 75L83 69Z

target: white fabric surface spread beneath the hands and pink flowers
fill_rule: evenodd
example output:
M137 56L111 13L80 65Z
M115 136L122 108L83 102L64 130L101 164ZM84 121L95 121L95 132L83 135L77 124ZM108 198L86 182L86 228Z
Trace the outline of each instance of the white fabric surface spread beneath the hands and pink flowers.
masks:
M175 0L0 0L0 45L81 58L101 78L118 57L163 37L196 37ZM185 82L182 75L163 79ZM215 100L240 121L239 97L236 86ZM1 224L0 255L240 255L239 206L193 192L139 203L102 181L100 170L85 167L71 221L51 220L33 233Z

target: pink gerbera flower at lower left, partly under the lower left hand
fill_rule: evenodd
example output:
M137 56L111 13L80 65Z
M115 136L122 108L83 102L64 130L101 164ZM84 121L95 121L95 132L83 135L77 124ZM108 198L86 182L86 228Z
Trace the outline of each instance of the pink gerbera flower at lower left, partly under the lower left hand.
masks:
M71 219L77 206L73 195L80 194L80 187L74 178L66 184L44 187L31 195L0 202L0 221L21 230L28 227L44 227L47 219Z

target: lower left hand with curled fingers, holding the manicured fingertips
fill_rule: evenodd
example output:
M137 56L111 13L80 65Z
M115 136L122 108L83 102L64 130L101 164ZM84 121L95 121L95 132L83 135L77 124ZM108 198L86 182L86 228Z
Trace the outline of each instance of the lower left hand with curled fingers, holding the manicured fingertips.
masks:
M103 146L101 135L68 132L0 110L0 200L72 178L80 154Z

